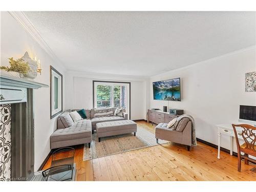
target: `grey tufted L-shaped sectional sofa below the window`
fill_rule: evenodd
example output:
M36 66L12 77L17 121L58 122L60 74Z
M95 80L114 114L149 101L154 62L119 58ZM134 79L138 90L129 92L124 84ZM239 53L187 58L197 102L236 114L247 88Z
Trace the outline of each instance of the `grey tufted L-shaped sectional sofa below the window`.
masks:
M76 122L69 118L69 113L75 110L68 110L67 112L62 113L57 118L57 130L50 137L50 147L59 148L65 146L72 146L77 144L90 143L92 141L92 134L96 130L96 123L107 122L107 121L118 121L118 120L127 120L128 114L123 113L122 117L120 116L100 116L100 113L97 113L95 117L95 112L100 112L109 108L98 108L98 109L88 109L86 110L87 119L82 119ZM115 113L116 108L112 108L113 114Z

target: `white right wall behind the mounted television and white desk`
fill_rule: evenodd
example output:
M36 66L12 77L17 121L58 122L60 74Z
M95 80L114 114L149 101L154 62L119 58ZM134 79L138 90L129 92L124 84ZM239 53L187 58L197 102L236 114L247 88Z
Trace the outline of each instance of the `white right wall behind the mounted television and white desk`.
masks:
M196 136L217 144L216 124L237 122L239 105L256 105L256 92L245 92L245 73L256 71L255 47L212 58L153 76L150 106L162 109L167 101L153 100L152 82L181 78L182 101L168 101L169 108L185 110L195 118ZM222 145L229 148L229 138ZM233 145L236 146L236 145Z

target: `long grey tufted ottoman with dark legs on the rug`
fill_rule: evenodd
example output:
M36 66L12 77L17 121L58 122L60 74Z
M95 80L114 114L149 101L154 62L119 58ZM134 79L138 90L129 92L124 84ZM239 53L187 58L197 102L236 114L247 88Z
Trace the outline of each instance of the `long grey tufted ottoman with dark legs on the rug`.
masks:
M134 133L136 136L137 124L132 120L108 121L96 124L98 139L113 135Z

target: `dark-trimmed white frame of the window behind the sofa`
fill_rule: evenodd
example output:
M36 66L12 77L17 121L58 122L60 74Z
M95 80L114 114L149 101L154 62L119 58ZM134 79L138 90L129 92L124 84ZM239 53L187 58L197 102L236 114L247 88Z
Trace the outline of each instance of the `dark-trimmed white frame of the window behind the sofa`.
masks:
M127 96L129 96L129 99L127 101L129 102L129 104L126 107L129 108L129 119L131 119L131 82L93 80L93 108L97 106L97 104L95 103L97 102L96 101L97 98L95 97L97 94L95 92L95 88L97 87L98 84L111 86L112 91L114 89L114 86L124 86L124 84L127 84L127 88L128 88L127 90L129 90L129 93L127 93ZM111 99L111 102L114 102L114 100ZM111 103L111 105L113 105L113 103Z

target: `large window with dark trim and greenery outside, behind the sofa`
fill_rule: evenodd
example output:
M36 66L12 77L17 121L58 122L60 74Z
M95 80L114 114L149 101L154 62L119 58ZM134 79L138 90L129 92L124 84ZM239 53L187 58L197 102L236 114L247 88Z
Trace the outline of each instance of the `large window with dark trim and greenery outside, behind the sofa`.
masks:
M130 82L93 81L93 87L95 108L121 107L130 113Z

